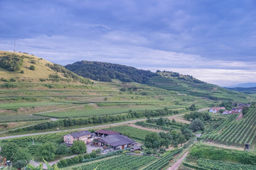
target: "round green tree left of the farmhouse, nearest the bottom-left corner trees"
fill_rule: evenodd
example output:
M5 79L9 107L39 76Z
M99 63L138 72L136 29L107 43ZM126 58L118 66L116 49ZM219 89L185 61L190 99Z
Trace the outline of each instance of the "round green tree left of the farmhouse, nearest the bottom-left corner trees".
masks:
M46 142L38 148L38 156L41 159L53 160L55 158L55 152L57 151L56 144L53 142Z

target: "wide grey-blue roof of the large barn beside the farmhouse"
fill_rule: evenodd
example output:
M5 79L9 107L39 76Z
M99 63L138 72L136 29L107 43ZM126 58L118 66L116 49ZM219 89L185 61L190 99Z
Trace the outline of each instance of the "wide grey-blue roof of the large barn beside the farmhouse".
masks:
M107 137L100 137L100 140L103 142L106 142L108 145L111 145L112 147L117 147L121 145L128 145L132 144L135 141L131 140L129 137L124 136L124 135L110 135Z

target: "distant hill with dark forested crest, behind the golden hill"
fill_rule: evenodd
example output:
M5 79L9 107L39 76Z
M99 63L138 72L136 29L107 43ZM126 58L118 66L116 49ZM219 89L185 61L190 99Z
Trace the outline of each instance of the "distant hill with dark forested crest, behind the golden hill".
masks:
M82 77L98 81L109 81L119 79L124 82L137 82L149 86L155 86L169 91L176 91L181 95L192 95L208 100L241 101L247 102L251 99L238 91L230 91L220 86L208 84L189 75L176 72L156 73L128 67L121 64L107 62L81 61L68 64L65 68Z

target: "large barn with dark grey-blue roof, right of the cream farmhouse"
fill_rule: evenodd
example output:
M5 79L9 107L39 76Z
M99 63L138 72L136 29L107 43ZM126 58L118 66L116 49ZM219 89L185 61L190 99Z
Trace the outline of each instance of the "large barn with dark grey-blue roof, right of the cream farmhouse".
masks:
M127 147L132 147L135 141L131 140L129 137L124 135L109 135L107 137L100 137L97 139L97 142L94 142L94 145L100 146L110 146L113 149L124 149Z

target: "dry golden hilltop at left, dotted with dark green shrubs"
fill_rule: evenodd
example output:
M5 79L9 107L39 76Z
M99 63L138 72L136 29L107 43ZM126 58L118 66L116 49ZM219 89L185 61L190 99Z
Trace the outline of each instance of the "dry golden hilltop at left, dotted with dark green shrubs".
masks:
M91 83L89 79L80 77L59 64L21 52L0 51L0 75L1 81L4 82Z

